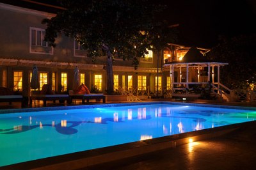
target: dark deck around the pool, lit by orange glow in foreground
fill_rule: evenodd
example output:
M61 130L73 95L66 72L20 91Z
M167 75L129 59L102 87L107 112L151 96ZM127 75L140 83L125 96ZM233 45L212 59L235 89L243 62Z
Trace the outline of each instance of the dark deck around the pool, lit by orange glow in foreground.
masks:
M210 104L256 107L256 103L245 102ZM55 105L58 104L51 106ZM3 108L1 106L0 109ZM39 103L31 107L43 106ZM4 106L4 109L8 108L20 109L20 104ZM195 141L186 142L191 137ZM87 152L87 156L82 158L80 153L72 155L72 158L65 155L52 160L29 162L20 164L19 169L255 169L255 143L256 121L253 121L103 148ZM87 163L81 163L86 161ZM15 167L10 166L7 169Z

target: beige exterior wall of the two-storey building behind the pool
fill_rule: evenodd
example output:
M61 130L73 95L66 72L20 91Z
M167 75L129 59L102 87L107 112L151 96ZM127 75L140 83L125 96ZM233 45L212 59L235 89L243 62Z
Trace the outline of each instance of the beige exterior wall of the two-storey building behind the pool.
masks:
M95 73L102 74L102 91L106 90L106 71L102 67L106 64L106 58L97 59L92 63L88 57L74 56L74 40L66 36L59 36L56 40L57 46L53 54L36 54L29 51L30 32L29 27L45 29L41 24L45 18L51 18L54 14L38 12L17 6L0 3L0 86L3 82L3 70L7 70L7 87L13 88L13 72L22 71L22 95L29 95L29 76L33 65L38 67L38 72L48 73L48 82L52 82L52 72L56 73L56 91L61 93L61 72L67 73L67 91L72 89L74 68L79 65L80 73L85 74L85 84L92 88ZM12 59L16 60L10 62ZM159 56L161 61L162 56ZM6 61L5 61L6 60ZM22 62L21 62L22 60ZM38 63L38 61L40 61ZM44 62L44 63L42 63ZM49 65L48 65L49 63ZM125 86L127 86L127 75L133 76L133 86L138 83L138 75L147 75L147 86L154 86L156 76L157 57L153 55L152 62L140 62L138 70L134 70L132 61L115 59L113 73L119 75L119 85L122 86L122 75L125 75ZM161 68L161 62L159 62ZM159 73L161 69L159 69ZM150 89L154 89L150 87Z

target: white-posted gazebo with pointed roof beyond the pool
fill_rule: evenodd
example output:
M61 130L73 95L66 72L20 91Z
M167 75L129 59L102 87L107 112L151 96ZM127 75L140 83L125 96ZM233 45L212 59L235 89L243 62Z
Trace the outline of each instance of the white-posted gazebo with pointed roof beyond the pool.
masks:
M211 84L212 93L220 94L220 66L228 63L211 61L196 47L191 47L183 58L164 64L164 68L170 68L170 87L173 97L199 97L194 89L198 86Z

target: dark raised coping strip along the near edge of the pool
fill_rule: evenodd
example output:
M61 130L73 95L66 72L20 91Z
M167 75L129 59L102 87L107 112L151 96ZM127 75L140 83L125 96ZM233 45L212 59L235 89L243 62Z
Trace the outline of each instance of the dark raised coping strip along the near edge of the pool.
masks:
M145 141L138 141L127 144L118 144L116 146L108 146L95 150L80 151L77 153L69 153L67 155L59 155L55 157L42 158L4 166L4 169L81 169L83 167L95 166L115 160L134 157L154 151L164 150L168 148L176 148L182 144L189 143L189 139L193 141L202 141L219 137L221 135L234 132L241 127L256 123L256 121L248 121L233 125L225 125L216 128L207 128L194 132L186 132L183 134L168 135Z

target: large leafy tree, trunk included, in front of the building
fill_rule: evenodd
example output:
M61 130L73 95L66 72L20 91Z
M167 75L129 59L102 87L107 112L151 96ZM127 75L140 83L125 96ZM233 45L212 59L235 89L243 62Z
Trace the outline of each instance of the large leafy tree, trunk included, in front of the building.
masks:
M66 10L52 19L44 19L47 24L45 40L55 47L55 39L60 33L76 38L87 49L88 56L107 56L107 90L113 93L113 56L132 59L136 69L138 58L152 49L159 27L156 13L163 6L147 0L63 0ZM167 44L167 42L164 42Z

